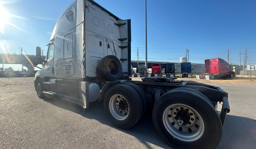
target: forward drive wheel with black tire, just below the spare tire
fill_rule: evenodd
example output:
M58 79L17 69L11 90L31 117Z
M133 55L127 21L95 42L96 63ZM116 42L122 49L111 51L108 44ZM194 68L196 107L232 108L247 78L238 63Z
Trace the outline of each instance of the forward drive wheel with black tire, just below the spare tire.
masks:
M104 110L113 125L128 129L140 120L143 107L139 93L129 85L121 84L108 89Z

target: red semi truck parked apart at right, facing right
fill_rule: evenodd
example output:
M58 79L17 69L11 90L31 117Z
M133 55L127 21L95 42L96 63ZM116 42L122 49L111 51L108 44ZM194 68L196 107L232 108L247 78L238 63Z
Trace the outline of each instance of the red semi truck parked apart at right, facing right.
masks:
M217 78L233 78L236 75L224 59L206 59L204 62L205 73L200 74L200 78L205 78L206 75L209 75L209 79L213 80Z

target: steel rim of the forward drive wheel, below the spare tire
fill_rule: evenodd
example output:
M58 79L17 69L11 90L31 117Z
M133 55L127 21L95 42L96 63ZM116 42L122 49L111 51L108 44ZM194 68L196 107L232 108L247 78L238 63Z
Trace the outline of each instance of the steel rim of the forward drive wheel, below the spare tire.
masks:
M125 108L122 107L124 105ZM124 120L129 115L128 101L124 98L124 96L120 94L115 94L109 100L109 110L115 119Z

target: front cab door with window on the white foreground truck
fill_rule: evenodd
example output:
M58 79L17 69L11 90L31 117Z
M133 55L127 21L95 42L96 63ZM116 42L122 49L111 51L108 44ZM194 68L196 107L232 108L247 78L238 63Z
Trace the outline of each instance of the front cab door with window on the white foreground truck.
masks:
M44 63L43 71L44 77L55 77L54 69L54 41L48 44L48 50L46 55L46 63Z

